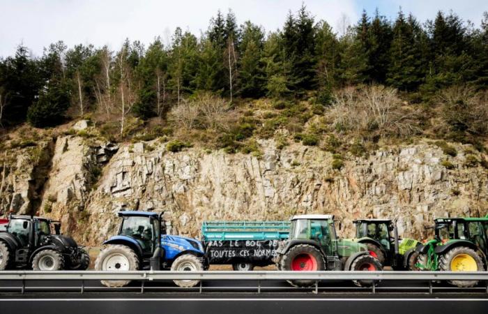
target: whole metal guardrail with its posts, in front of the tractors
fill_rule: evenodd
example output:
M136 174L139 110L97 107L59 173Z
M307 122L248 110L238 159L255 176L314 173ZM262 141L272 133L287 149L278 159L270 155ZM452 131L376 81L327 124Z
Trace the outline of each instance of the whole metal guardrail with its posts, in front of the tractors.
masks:
M155 285L151 282L171 282L199 280L197 287L176 287L171 285ZM312 287L291 287L290 285L273 286L273 282L306 280L313 281ZM398 281L396 286L371 285L370 287L344 287L341 285L319 285L319 283L330 283L338 281ZM14 281L21 285L5 285ZM49 283L44 283L48 281ZM60 284L61 282L74 281L77 284ZM133 281L139 283L129 287L110 288L103 287L100 283L93 285L93 281ZM224 281L225 285L213 286L213 281ZM249 285L229 285L228 283L245 281L253 282ZM445 287L442 285L434 286L436 282L443 281L480 281L484 285L477 287ZM27 285L31 282L41 282L39 285ZM86 283L92 283L87 285ZM419 285L409 285L407 283L418 282ZM242 282L241 282L242 283ZM265 285L264 283L268 283ZM434 291L455 291L473 292L478 291L488 294L488 272L459 272L459 271L0 271L0 291L20 291L22 294L26 290L32 291L302 291L302 292L340 292L340 291L359 291L375 294L377 291L394 292L427 292Z

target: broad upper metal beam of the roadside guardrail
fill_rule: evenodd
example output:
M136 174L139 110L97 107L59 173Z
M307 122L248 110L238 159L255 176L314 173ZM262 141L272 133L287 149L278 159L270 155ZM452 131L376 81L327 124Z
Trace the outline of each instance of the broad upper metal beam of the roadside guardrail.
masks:
M488 281L487 271L0 271L5 280Z

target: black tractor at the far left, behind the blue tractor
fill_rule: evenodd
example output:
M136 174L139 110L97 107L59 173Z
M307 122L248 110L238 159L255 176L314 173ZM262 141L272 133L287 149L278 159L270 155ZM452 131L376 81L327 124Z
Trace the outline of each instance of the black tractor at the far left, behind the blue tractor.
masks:
M87 269L88 253L60 230L56 220L10 215L6 230L0 232L0 270Z

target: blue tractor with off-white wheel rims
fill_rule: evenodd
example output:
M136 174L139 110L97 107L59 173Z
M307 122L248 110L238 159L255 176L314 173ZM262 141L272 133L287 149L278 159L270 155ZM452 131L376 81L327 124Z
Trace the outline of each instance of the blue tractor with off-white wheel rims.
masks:
M148 211L120 211L119 234L103 242L95 262L98 271L141 269L201 271L207 268L204 248L199 241L166 234L162 214ZM102 281L107 287L123 287L130 281ZM199 281L174 281L180 287L193 287Z

